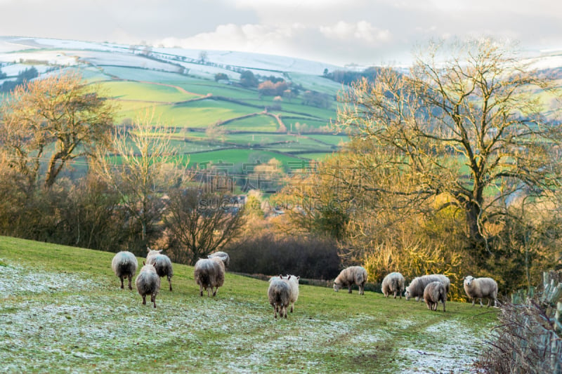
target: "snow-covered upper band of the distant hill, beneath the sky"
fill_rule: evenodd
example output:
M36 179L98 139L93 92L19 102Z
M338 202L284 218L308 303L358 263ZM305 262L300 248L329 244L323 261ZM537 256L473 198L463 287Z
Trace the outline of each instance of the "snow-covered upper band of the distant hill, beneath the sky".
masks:
M171 72L177 72L178 67L183 66L189 69L190 74L200 72L204 76L216 74L223 67L251 69L264 75L283 72L322 75L325 69L341 69L322 62L235 51L204 51L207 64L202 65L194 63L199 62L202 51L183 48L150 48L150 55L160 60L151 62L146 58L147 51L144 46L0 36L0 64L4 66L25 61L65 66L89 62L93 65L133 66Z

